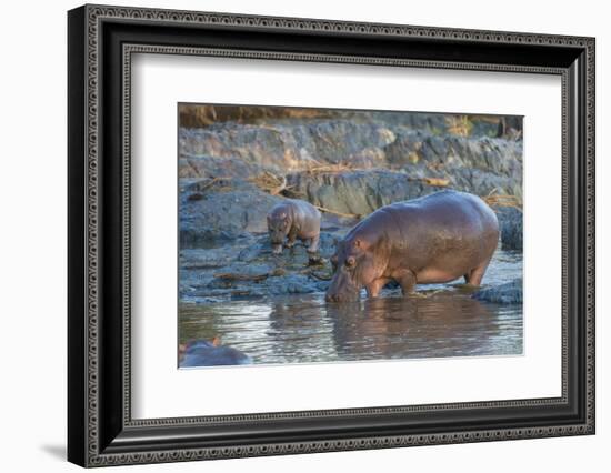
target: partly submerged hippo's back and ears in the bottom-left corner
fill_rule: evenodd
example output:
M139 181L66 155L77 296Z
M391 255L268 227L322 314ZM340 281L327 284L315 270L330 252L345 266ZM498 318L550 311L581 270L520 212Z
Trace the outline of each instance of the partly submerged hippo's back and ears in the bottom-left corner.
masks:
M251 364L246 353L231 346L223 346L219 339L212 342L192 340L179 346L179 368L226 366L232 364Z

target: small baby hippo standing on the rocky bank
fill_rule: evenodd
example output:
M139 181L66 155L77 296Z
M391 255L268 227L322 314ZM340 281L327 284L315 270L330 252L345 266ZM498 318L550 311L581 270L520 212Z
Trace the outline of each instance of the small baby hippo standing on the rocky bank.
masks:
M282 253L287 236L287 248L292 248L299 239L308 245L309 253L315 253L320 240L320 212L309 202L286 199L268 213L268 230L276 254Z

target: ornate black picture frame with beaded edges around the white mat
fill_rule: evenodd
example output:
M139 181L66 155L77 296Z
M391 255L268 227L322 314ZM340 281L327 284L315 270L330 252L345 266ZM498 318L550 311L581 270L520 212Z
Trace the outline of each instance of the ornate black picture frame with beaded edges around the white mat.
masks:
M178 462L594 433L593 38L84 6L68 14L68 459ZM443 70L562 81L562 395L132 419L133 53Z

